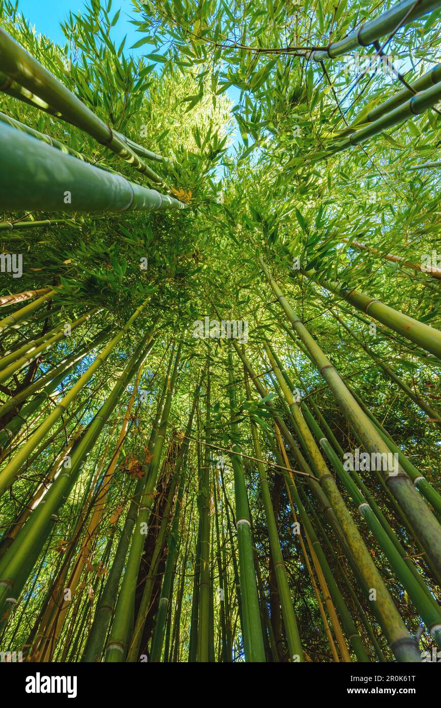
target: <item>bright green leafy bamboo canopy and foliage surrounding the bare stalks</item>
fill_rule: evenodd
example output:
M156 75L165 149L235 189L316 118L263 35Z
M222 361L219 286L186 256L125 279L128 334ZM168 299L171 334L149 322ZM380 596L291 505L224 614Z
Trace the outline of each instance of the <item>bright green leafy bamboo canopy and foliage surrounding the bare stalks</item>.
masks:
M148 469L151 469L148 465L153 455L153 431L155 425L158 427L160 396L167 390L170 379L172 347L182 342L179 377L160 458L159 479L163 492L158 493L148 521L146 558L151 558L148 553L153 553L148 544L154 547L159 536L164 510L161 495L166 496L166 491L170 491L172 463L169 455L174 454L175 443L182 442L180 435L186 429L194 392L200 382L205 393L208 361L211 438L206 434L207 411L201 396L195 406L187 476L182 490L182 515L177 520L177 564L182 573L176 573L177 580L171 590L172 647L170 651L164 650L169 651L167 659L187 661L191 653L193 582L200 570L198 514L201 497L208 497L210 517L217 517L220 522L216 530L213 520L212 547L206 555L210 558L211 583L216 583L214 578L223 571L225 591L230 598L227 619L232 636L227 637L228 627L223 623L225 618L217 598L213 600L214 610L210 610L216 618L213 631L220 638L220 644L225 645L225 638L228 639L230 658L243 659L240 598L236 593L235 484L230 463L233 452L228 452L239 443L248 455L242 459L242 464L257 567L262 576L258 582L262 607L268 604L266 598L276 596L266 514L256 461L252 459L255 455L249 427L251 420L259 431L305 656L314 662L331 661L317 598L305 570L299 539L293 533L290 498L281 484L281 466L268 437L274 433L275 417L283 417L288 427L292 426L292 421L269 375L268 361L262 357L266 338L271 340L301 396L317 404L336 444L346 451L353 450L359 443L305 348L291 336L288 321L261 272L259 256L264 257L286 298L314 340L327 352L341 377L351 382L367 408L375 413L421 474L433 487L439 486L435 471L440 464L440 427L436 418L424 411L415 399L423 399L433 409L440 407L440 360L409 341L404 333L396 333L378 323L377 333L371 337L372 317L358 312L338 292L342 288L357 288L372 299L435 330L440 329L440 279L418 268L423 254L440 250L439 176L436 169L411 169L437 159L439 113L428 110L421 117L383 132L363 147L351 147L329 156L329 149L367 125L370 110L401 89L401 84L380 71L366 75L351 73L352 70L345 70L341 57L324 62L312 62L308 58L310 50L327 47L329 42L343 38L390 6L392 1L389 0L381 2L375 11L353 0L340 0L336 4L330 0L319 0L315 4L305 0L302 5L257 0L234 7L225 0L148 0L142 3L134 0L131 21L139 30L139 40L127 47L125 40L117 46L112 39L113 28L122 23L119 8L112 6L110 0L90 0L81 13L69 13L61 25L66 44L58 47L33 30L20 15L18 6L0 0L1 26L112 130L162 156L163 159L149 164L163 179L164 190L188 205L180 212L147 215L131 212L91 217L73 212L71 220L66 219L61 224L16 232L0 230L3 253L23 255L20 280L1 273L0 297L45 287L52 287L56 293L44 307L24 317L21 326L14 324L2 335L1 357L25 345L32 350L35 340L45 337L60 322L72 321L98 309L71 337L66 336L57 346L48 348L35 364L31 362L8 379L6 385L0 386L0 423L4 428L0 431L0 478L11 455L23 450L30 435L39 430L58 396L70 391L97 361L109 340L96 346L96 338L106 328L109 339L110 333L114 336L121 331L136 308L148 300L146 309L114 346L88 387L78 392L62 418L62 425L42 435L36 452L28 456L20 469L11 495L6 493L1 497L4 535L0 539L0 569L2 554L7 552L8 533L20 520L20 514L45 485L59 455L73 438L88 430L92 421L99 420L102 405L111 399L118 378L149 327L152 326L154 334L121 450L115 451L115 446L134 387L133 377L124 385L90 454L84 456L66 499L60 501L56 523L51 522L50 529L42 531L38 554L25 559L28 574L23 578L23 591L16 609L5 617L5 641L16 641L19 646L27 645L28 640L33 643L49 602L49 590L54 582L60 578L65 580L72 572L84 541L83 516L86 521L90 520L96 501L94 495L100 489L112 456L116 455L117 466L88 565L83 569L75 601L66 612L61 639L52 648L52 658L57 661L81 658L96 617L96 598L105 586L110 569L119 567L118 541L124 535L124 524L131 513L130 503L139 494L139 481L143 475L147 479ZM406 52L410 57L408 71L406 69L408 82L420 76L423 60L426 62L424 70L435 64L441 41L437 18L439 13L434 11L402 28L387 46L387 51L394 55ZM385 39L380 38L380 42ZM370 57L375 55L373 47L368 47L366 52ZM35 105L20 102L6 93L1 96L2 111L7 115L85 154L93 162L122 173L131 181L151 186L147 178L135 174L127 162L85 132L44 110L37 110ZM235 105L229 96L235 96ZM62 212L57 215L7 212L1 220L14 224L64 216ZM391 260L391 254L399 260ZM413 268L412 264L417 267ZM338 286L334 287L334 292L328 287L329 282ZM8 304L0 310L0 319L28 302L34 300ZM216 321L247 321L249 338L243 343L243 351L266 390L262 399L255 395L254 389L251 398L247 394L242 362L234 355L235 396L229 404L228 341L192 336L195 321L204 321L206 317ZM90 350L83 350L86 345ZM366 346L376 360L367 353ZM79 359L76 358L78 353L81 353ZM390 381L377 360L393 370L405 387L411 389L413 397ZM65 375L64 366L71 367L66 369ZM55 375L53 378L56 387L49 391L45 379L44 395L38 398L41 392L37 382L48 374L51 379L56 369L58 376L59 367L61 379L58 381ZM28 387L34 384L35 388L28 392ZM145 396L141 396L141 391ZM25 397L26 406L31 404L31 409L23 409L23 400L8 408L8 400L13 397L15 401L20 394ZM28 413L20 418L23 410ZM8 426L17 426L11 440L6 433ZM294 427L292 433L297 435ZM214 447L206 453L204 441L208 439ZM296 440L299 442L298 438ZM225 458L223 470L216 466L220 456L216 446L225 448L221 452ZM287 449L290 464L298 472L291 452ZM208 464L211 462L210 489L206 479L204 484L201 482L204 457ZM308 514L332 570L339 577L339 588L351 613L356 616L356 605L351 585L341 581L342 571L355 588L368 615L368 624L378 636L382 627L357 586L353 566L344 549L343 552L339 549L337 560L341 569L337 569L333 549L340 540L335 528L329 525L310 487L303 484L299 476L297 481L305 506L312 506ZM415 557L418 573L430 593L439 598L439 578L423 557L418 538L412 536L406 520L396 513L393 498L384 492L377 477L372 475L363 481L408 556ZM404 602L404 590L392 573L387 557L359 522L346 488L338 484L387 589L401 603L401 615L408 629L416 634L420 624L418 612L412 604ZM318 523L314 515L318 516ZM322 531L319 523L323 524ZM20 538L26 533L25 525ZM208 536L206 533L205 537ZM62 574L64 571L66 576ZM142 572L141 569L141 586L145 582ZM158 578L161 573L163 566L160 566ZM117 576L115 593L119 579ZM160 592L158 582L152 592L152 609L141 649L151 646L153 617ZM141 603L139 595L135 600L137 612ZM280 634L276 636L276 656L279 661L286 661L288 645L277 600L271 600L269 605L271 626ZM35 632L30 632L34 624ZM358 624L370 658L377 661L378 653L368 629L361 620ZM75 641L69 645L67 640L72 636ZM430 646L430 641L430 636L424 634L421 646ZM217 645L216 639L216 652ZM385 641L381 649L387 661L392 661ZM102 653L100 651L100 656ZM216 660L218 658L216 655Z

